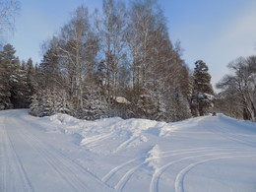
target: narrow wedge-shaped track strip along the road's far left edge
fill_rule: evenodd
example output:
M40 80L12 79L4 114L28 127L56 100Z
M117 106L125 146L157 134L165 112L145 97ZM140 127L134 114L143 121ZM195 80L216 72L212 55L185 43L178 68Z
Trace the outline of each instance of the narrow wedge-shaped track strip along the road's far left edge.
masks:
M1 191L34 191L29 176L23 166L22 160L15 151L12 140L6 129L6 117L2 119L3 127L1 129L2 148L2 167L3 175L1 179ZM7 186L11 179L18 179L22 183L13 183L13 186Z

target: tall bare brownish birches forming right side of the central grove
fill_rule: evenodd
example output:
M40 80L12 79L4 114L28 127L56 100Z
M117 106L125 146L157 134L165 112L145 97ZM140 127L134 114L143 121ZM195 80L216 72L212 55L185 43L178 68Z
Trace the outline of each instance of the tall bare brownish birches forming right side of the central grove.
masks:
M189 116L175 116L180 100L187 99L182 86L188 82L188 70L180 58L179 44L173 46L169 39L162 11L155 1L132 3L127 44L133 70L134 101L142 117L179 120ZM182 108L188 109L187 101Z

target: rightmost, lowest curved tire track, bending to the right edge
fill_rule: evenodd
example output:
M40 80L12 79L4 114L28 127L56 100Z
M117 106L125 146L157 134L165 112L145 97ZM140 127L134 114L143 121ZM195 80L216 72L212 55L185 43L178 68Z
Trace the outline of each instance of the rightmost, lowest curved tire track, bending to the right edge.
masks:
M188 164L185 168L181 169L175 178L175 192L184 192L184 178L186 174L194 167L214 160L224 160L224 159L231 159L231 158L253 158L256 156L225 156L225 157L218 157L218 158L211 158L206 160L199 160L194 163Z

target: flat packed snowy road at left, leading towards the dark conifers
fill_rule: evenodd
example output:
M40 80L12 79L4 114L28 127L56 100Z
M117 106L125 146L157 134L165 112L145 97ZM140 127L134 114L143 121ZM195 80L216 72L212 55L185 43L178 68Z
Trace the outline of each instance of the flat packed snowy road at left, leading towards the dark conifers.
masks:
M31 123L17 111L1 112L1 191L111 191Z

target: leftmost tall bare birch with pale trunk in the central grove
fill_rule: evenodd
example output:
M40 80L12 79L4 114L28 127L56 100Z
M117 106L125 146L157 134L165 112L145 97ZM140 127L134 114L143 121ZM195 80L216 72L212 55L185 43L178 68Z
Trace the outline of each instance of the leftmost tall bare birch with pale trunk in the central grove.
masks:
M85 74L93 70L92 59L96 55L96 39L91 32L88 9L79 7L71 21L62 29L58 54L68 78L69 93L77 107L83 107Z

